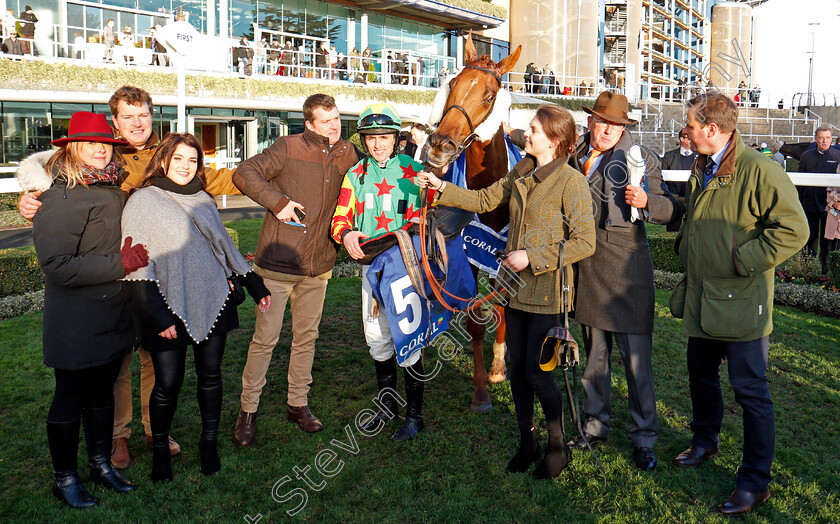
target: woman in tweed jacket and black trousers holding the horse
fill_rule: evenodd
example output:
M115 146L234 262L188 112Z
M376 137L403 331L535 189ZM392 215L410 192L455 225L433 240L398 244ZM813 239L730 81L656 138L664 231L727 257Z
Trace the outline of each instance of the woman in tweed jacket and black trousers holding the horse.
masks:
M572 264L595 252L595 223L589 185L567 164L577 133L565 109L543 105L525 132L522 161L495 184L471 191L447 184L430 173L418 175L421 187L438 191L437 204L485 213L510 205L510 229L502 262L519 277L505 306L505 343L510 354L510 387L516 407L520 446L510 473L524 473L540 458L534 427L534 395L548 427L548 450L531 474L554 478L571 455L563 434L563 396L550 372L539 368L548 331L574 303L563 286L571 285ZM562 256L562 258L561 258Z

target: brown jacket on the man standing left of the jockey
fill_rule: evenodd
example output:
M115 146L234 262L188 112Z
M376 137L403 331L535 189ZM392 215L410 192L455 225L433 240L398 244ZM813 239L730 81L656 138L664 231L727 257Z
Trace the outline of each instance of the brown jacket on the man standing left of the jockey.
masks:
M344 174L358 160L347 140L330 146L329 139L307 129L279 137L239 164L233 183L267 210L254 260L259 268L310 277L332 269L338 246L330 224ZM303 226L277 220L290 200L303 205Z

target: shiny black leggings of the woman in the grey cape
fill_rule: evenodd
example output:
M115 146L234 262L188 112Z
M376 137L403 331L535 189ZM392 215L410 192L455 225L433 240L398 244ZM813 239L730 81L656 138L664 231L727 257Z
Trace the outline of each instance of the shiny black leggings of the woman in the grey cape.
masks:
M222 356L227 335L212 335L195 348L198 407L201 410L201 439L216 440L222 412ZM170 351L152 351L155 387L149 401L152 437L162 444L169 438L172 419L178 407L178 394L184 383L187 345Z

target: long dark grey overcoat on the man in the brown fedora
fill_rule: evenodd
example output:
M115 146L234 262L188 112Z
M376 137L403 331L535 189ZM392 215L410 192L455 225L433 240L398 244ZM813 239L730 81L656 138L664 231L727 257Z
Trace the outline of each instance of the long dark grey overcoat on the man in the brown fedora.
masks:
M605 331L648 335L653 333L653 262L645 224L630 220L631 207L624 202L626 154L633 144L625 130L589 176L597 242L595 254L577 266L575 318ZM587 133L569 163L582 172L588 153ZM645 177L647 221L667 224L677 219L682 208L662 182L658 162L647 160Z

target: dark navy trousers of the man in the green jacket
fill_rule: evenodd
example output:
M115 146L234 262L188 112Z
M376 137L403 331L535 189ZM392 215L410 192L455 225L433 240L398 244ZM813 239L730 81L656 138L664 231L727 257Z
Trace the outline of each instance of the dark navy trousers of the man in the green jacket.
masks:
M763 493L770 484L770 466L776 446L773 401L767 387L770 338L749 342L688 339L688 383L691 390L692 444L718 447L723 419L720 365L729 365L729 383L744 411L744 457L738 468L738 487Z

